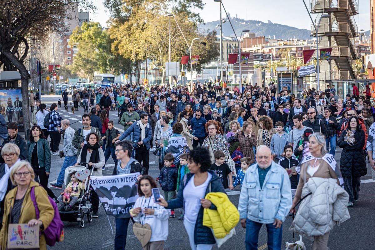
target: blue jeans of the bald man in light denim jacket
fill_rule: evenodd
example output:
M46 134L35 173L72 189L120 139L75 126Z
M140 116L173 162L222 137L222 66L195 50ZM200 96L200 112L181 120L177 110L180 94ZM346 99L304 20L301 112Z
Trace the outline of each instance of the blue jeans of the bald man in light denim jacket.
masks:
M273 223L266 224L267 227L267 245L269 250L281 249L281 238L282 238L282 224L280 228L275 228ZM258 235L259 230L262 227L262 223L253 222L252 220L246 219L246 239L245 246L246 250L257 250L258 249Z

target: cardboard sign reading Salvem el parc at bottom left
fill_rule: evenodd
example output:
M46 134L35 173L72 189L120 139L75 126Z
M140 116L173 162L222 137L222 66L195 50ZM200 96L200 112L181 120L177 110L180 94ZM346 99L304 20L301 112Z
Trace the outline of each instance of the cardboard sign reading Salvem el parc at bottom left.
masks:
M39 248L39 225L9 224L7 249L30 248Z

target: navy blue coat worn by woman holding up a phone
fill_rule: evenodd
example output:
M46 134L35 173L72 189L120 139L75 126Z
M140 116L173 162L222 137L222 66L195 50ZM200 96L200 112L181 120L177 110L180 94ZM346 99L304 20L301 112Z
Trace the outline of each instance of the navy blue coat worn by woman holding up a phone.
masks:
M216 173L212 170L208 170L212 175L210 180L211 184L211 192L222 192L225 193L225 189L223 184L221 183L221 179L217 177ZM181 181L180 187L177 193L177 198L168 201L168 209L174 208L181 208L184 206L184 196L183 191L186 184L189 182L190 178L193 177L193 174L188 173L184 176L184 180ZM205 195L210 192L210 184L208 184ZM211 232L211 229L203 226L203 207L199 209L198 217L196 218L195 228L194 228L194 243L198 244L215 244L215 238ZM216 206L214 204L211 205L210 209L216 210Z

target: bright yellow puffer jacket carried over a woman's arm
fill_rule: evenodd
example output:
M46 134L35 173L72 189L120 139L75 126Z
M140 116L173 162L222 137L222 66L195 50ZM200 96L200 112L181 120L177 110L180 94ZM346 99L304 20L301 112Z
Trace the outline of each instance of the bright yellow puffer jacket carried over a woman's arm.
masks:
M204 208L203 226L212 228L215 237L222 239L237 225L240 213L225 193L208 193L205 199L210 200L217 210Z

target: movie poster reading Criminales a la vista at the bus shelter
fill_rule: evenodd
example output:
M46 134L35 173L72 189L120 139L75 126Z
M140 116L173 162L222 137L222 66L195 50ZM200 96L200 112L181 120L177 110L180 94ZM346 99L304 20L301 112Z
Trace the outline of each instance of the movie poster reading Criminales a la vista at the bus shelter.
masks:
M0 106L5 110L6 124L17 123L18 129L23 129L21 87L0 88Z

